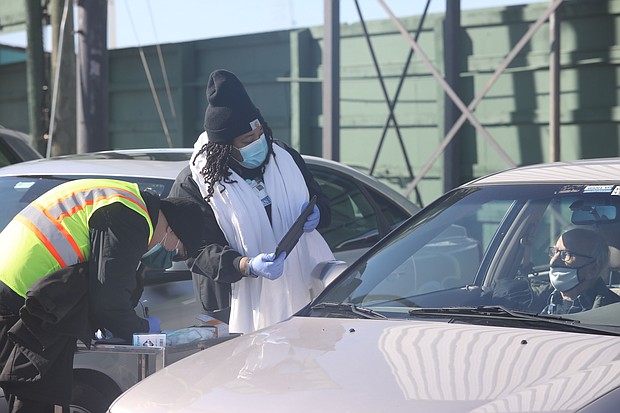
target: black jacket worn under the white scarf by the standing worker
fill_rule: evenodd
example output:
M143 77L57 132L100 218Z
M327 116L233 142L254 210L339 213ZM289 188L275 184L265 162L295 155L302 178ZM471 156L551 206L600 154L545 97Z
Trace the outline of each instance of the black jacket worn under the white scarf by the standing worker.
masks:
M314 180L301 155L283 142L274 141L274 143L284 148L292 156L304 177L310 197L313 195L317 196L317 206L321 212L319 227L329 225L331 221L329 198L321 191L321 187ZM250 170L240 165L231 167L244 179L251 179L260 173L260 168ZM230 307L231 284L241 280L243 277L239 272L239 261L242 255L235 251L226 241L226 237L217 223L211 206L205 202L198 185L192 179L189 166L184 168L177 176L170 196L187 196L198 201L202 206L207 222L207 243L196 259L188 260L188 265L192 269L195 292L202 304L202 309L216 318L225 318L223 321L227 322L227 314L222 317L213 312ZM269 208L266 209L267 215L271 219L271 211Z

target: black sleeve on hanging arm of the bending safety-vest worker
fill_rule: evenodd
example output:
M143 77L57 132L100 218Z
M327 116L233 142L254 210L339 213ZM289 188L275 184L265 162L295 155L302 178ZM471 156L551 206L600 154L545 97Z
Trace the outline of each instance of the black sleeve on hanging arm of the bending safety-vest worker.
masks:
M148 223L116 202L95 211L89 227L91 312L98 326L131 341L133 333L149 329L134 310L142 295L137 269L148 248Z

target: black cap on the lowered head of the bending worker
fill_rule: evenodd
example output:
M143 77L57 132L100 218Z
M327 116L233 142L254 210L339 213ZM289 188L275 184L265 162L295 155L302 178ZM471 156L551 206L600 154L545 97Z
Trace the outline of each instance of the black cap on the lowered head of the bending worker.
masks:
M161 200L159 208L185 246L187 257L196 255L205 238L205 220L200 205L190 198L169 197Z

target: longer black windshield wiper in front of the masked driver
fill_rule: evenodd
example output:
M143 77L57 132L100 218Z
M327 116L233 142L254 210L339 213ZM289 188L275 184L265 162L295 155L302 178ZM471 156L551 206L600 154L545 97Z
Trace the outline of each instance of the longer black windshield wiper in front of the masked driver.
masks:
M579 320L573 320L558 315L536 314L526 311L511 310L503 306L412 308L409 310L409 315L422 317L449 317L451 318L450 322L454 322L457 319L463 320L466 318L520 321L524 323L534 323L536 325L553 325L562 329L585 333L608 334L616 336L620 335L617 329L613 328L587 326L580 324Z

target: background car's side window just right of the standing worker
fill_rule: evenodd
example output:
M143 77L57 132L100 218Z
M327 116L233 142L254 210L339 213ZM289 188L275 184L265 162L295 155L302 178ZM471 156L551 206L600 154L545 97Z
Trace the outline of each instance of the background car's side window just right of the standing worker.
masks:
M331 203L331 225L319 229L334 252L370 247L379 240L374 208L350 178L323 170L313 175Z

